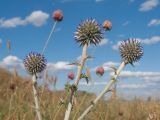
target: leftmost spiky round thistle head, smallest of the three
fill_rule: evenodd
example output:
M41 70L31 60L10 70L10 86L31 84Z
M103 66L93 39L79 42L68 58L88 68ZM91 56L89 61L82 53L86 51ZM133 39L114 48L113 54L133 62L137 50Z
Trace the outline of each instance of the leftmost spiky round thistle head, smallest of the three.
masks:
M46 68L46 59L39 53L31 52L24 59L24 66L29 74L36 75Z

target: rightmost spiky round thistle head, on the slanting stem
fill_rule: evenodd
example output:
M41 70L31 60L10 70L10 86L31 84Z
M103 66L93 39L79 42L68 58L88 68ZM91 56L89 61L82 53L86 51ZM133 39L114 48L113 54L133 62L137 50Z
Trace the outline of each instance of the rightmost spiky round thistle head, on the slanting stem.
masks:
M123 41L119 46L119 51L126 64L133 64L134 62L137 62L143 55L143 49L140 41L136 39Z

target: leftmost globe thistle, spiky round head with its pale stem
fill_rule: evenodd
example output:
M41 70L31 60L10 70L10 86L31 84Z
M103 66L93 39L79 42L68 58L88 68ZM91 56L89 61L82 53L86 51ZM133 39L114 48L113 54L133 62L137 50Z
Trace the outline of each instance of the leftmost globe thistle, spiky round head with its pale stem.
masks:
M41 73L46 68L46 59L43 55L35 52L29 53L24 59L24 66L29 74L32 75L32 87L35 102L35 111L37 113L38 120L42 120L40 107L37 94L37 73Z

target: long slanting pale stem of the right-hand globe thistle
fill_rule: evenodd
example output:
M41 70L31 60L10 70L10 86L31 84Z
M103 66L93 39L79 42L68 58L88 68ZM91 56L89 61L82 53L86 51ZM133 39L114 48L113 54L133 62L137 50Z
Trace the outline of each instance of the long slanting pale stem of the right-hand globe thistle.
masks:
M111 86L116 82L118 75L123 70L125 65L126 65L125 62L121 63L121 65L116 71L116 74L112 76L111 80L103 89L103 91L101 91L101 93L96 97L96 99L91 103L91 105L83 112L83 114L78 118L78 120L82 120L91 111L91 109L95 106L95 104L104 96L104 94L111 88Z

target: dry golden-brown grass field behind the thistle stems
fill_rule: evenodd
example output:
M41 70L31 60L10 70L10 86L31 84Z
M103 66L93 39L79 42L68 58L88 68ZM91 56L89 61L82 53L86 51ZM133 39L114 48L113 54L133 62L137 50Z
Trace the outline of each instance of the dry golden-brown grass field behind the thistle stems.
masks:
M36 120L34 101L32 99L32 86L29 79L12 75L4 69L0 69L0 120ZM63 120L65 106L60 106L59 99L65 98L64 91L49 91L47 87L42 94L39 87L40 107L43 120ZM87 95L86 95L87 94ZM79 106L83 96L85 102ZM74 106L71 120L77 117L95 98L94 94L87 92L78 93L77 106ZM75 112L77 113L75 116ZM147 120L149 115L156 115L160 120L160 101L144 101L134 99L132 101L101 100L93 111L85 118L86 120ZM56 116L55 116L56 115ZM152 120L152 119L150 119Z

